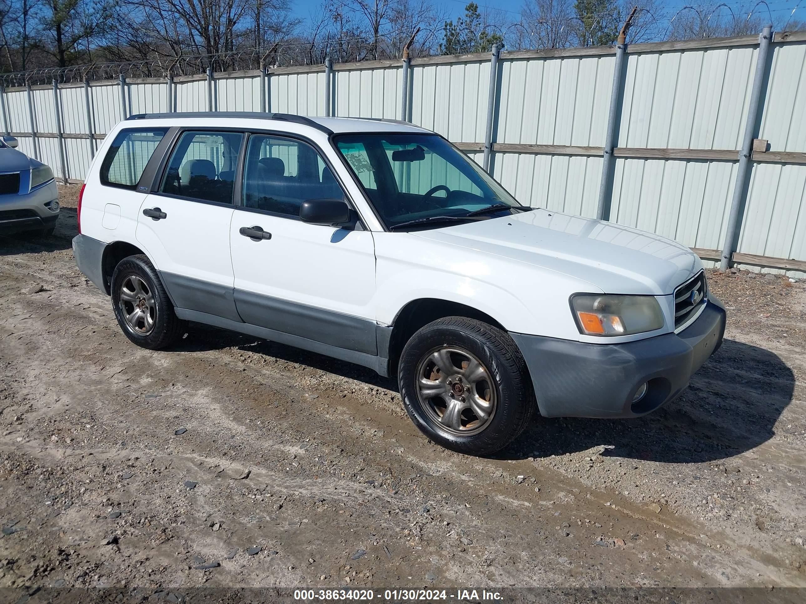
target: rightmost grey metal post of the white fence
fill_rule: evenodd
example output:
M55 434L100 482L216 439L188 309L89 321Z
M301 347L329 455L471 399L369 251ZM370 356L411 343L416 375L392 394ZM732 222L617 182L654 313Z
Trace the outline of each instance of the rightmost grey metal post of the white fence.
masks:
M750 105L747 109L742 151L739 151L739 165L736 171L736 184L733 185L733 200L730 202L728 228L725 232L725 246L722 249L722 255L719 260L719 267L722 271L727 270L730 266L733 248L736 246L738 238L739 221L741 220L739 211L746 202L747 176L753 159L753 139L755 138L755 127L758 121L758 105L759 101L761 101L764 86L764 72L767 70L767 53L770 50L771 39L772 26L767 25L758 35L758 57L756 58L756 71L753 77L753 89L750 90Z

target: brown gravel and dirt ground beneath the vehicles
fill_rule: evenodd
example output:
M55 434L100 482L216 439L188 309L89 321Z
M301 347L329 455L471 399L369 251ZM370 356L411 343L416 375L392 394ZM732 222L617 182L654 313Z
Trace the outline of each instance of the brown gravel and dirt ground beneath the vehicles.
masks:
M76 196L0 238L0 587L806 585L806 284L708 271L725 344L678 400L480 459L359 366L202 325L135 347Z

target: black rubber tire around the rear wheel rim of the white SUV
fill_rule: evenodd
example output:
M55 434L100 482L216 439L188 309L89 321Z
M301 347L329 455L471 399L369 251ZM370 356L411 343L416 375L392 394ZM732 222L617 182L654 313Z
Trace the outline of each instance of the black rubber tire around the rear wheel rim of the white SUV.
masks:
M152 296L153 304L150 307L149 316L152 317L152 326L146 329L143 325L142 331L132 327L127 321L126 308L133 308L131 302L124 304L122 301L124 286L131 289L134 279L141 279L144 282L144 290ZM173 312L173 304L168 298L168 293L156 274L152 263L147 256L138 254L128 256L114 267L111 284L112 308L114 316L118 320L118 325L136 345L149 350L160 350L177 341L184 329L185 322L181 321ZM147 310L148 308L146 308Z

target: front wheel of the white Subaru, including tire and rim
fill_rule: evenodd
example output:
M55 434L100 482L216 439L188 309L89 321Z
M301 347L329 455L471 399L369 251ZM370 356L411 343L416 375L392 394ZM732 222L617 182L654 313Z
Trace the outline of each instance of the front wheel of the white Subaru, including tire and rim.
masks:
M526 428L536 404L526 362L509 334L462 316L414 333L397 375L414 424L459 453L503 449Z

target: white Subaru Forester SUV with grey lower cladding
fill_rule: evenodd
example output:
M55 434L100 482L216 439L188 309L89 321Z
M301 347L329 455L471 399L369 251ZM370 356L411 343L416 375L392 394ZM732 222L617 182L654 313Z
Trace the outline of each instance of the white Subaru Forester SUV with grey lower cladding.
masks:
M78 212L78 267L135 344L197 321L368 366L463 453L505 447L535 411L651 412L725 331L688 248L520 205L403 122L132 116Z

